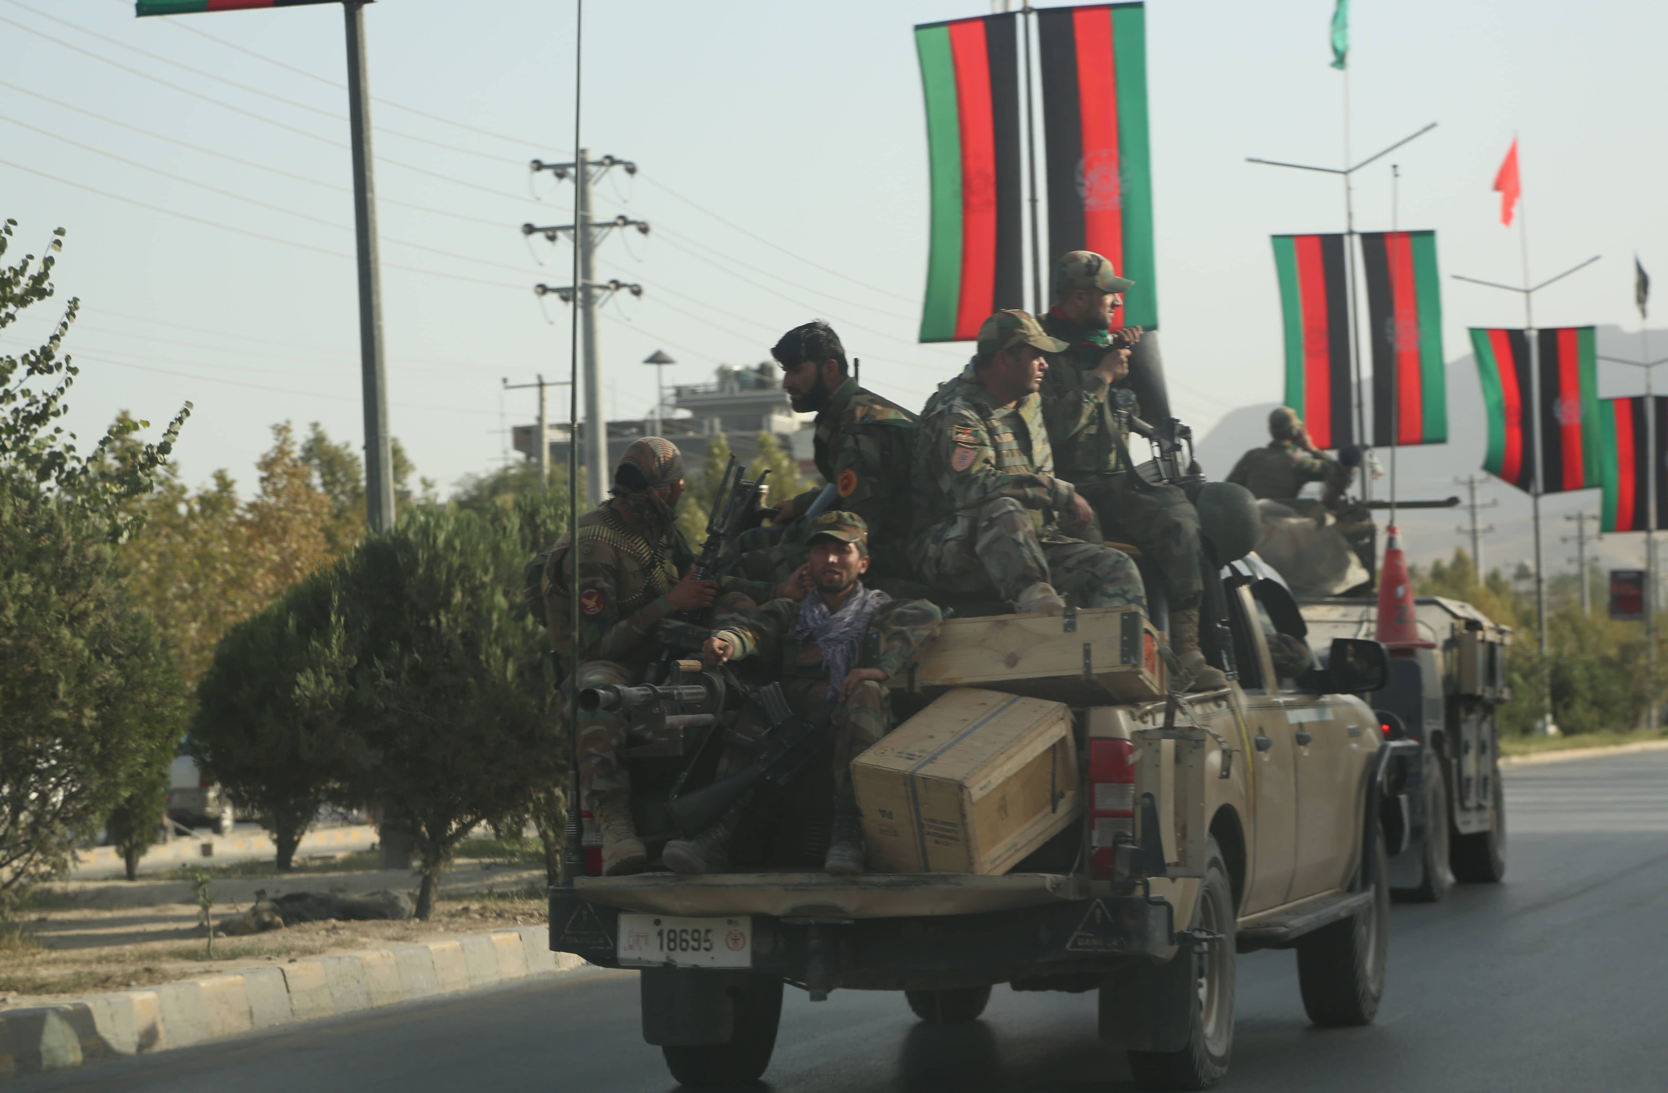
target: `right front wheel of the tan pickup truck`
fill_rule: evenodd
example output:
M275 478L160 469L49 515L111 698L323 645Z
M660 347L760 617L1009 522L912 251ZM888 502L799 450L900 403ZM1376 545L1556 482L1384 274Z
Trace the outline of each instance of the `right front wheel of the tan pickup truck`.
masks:
M1373 839L1373 903L1358 914L1321 926L1298 941L1298 988L1303 1011L1321 1028L1369 1025L1384 993L1389 953L1389 884L1384 836Z

